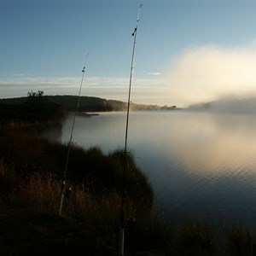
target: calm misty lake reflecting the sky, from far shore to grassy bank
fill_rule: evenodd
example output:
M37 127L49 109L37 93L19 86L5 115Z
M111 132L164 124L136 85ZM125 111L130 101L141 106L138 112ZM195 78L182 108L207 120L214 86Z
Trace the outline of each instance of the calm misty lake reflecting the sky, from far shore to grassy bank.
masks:
M125 145L125 113L77 116L73 143L108 153ZM73 116L60 139L70 137ZM236 218L256 227L256 118L251 114L131 112L128 148L166 218Z

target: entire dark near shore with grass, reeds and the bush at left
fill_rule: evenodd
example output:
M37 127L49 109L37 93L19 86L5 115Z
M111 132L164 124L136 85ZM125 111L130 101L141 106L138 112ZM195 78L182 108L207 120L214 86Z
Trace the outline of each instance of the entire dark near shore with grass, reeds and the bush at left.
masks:
M72 146L72 192L60 217L68 145L38 134L60 125L64 113L40 91L25 102L1 105L0 255L117 255L123 151L106 155L100 148ZM256 235L234 221L203 214L167 223L132 154L127 162L125 216L137 222L126 224L125 255L256 255Z

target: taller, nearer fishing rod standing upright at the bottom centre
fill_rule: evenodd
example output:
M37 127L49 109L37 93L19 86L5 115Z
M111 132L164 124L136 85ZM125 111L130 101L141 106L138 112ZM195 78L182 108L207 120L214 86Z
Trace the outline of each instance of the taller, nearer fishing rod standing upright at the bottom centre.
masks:
M126 189L126 167L127 167L127 138L128 138L128 127L129 127L129 113L130 113L130 104L131 104L131 82L132 75L134 70L134 56L135 56L135 46L137 39L137 28L139 24L139 17L143 4L140 5L138 14L137 14L137 24L134 29L134 32L131 33L131 36L134 37L133 48L131 55L131 72L130 72L130 83L129 83L129 92L128 92L128 102L127 102L127 114L126 114L126 126L125 126L125 149L124 149L124 160L123 160L123 189L122 189L122 199L121 199L121 210L120 210L120 226L119 226L119 254L124 255L124 245L125 245L125 189Z

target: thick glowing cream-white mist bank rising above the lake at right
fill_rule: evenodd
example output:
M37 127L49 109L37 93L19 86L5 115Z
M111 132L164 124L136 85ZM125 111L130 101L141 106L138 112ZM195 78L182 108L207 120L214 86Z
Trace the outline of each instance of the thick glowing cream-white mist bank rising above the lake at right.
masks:
M226 96L256 96L256 44L188 47L166 72L168 96L179 107Z

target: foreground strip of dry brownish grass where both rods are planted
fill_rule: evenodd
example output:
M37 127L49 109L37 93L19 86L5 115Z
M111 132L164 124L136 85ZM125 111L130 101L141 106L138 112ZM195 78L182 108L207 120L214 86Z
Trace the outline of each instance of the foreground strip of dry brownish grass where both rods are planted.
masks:
M117 255L120 195L96 196L86 184L73 184L60 217L60 183L51 174L20 177L0 162L1 255ZM202 215L166 223L153 208L128 200L125 255L255 255L256 236L234 221Z

